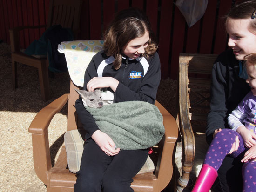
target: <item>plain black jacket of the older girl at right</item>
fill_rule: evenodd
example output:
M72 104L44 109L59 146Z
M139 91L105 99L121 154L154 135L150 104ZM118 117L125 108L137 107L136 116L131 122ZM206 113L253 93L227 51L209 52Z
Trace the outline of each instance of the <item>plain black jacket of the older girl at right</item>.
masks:
M229 128L227 118L250 88L239 77L239 61L232 50L221 53L213 65L210 112L207 118L206 139L210 143L214 130Z

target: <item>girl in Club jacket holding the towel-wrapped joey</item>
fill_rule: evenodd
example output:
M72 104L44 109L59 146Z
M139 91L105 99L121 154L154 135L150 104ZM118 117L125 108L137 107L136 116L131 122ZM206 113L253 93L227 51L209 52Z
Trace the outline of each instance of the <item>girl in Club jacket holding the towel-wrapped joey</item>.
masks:
M108 88L115 93L115 102L154 104L161 70L148 17L135 8L123 10L115 15L104 38L103 51L93 57L85 72L84 90ZM81 98L75 107L87 131L75 192L133 192L132 178L144 165L148 149L116 149Z

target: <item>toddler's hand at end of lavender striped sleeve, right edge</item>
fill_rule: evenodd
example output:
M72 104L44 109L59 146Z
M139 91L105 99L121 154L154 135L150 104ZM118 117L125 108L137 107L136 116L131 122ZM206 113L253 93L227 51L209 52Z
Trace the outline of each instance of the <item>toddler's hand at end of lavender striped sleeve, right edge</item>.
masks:
M242 136L243 143L247 148L256 145L256 134L249 131L247 128L245 128L245 126L239 126L236 132L238 132Z

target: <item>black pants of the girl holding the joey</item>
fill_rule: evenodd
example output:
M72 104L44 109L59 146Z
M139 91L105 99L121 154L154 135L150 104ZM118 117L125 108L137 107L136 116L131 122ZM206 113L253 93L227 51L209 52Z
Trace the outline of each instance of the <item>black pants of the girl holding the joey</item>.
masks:
M121 150L108 156L90 139L84 145L75 192L133 192L133 177L148 157L148 150Z

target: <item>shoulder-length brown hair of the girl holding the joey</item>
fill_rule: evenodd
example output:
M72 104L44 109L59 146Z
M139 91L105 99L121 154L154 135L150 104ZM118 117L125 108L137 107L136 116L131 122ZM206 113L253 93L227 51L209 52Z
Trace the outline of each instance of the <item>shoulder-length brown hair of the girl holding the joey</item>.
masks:
M121 49L130 40L143 36L146 31L149 33L149 41L143 56L149 58L156 52L157 44L153 40L154 35L147 15L137 8L125 9L115 15L104 34L104 51L108 56L115 56L113 66L116 70L121 66Z

